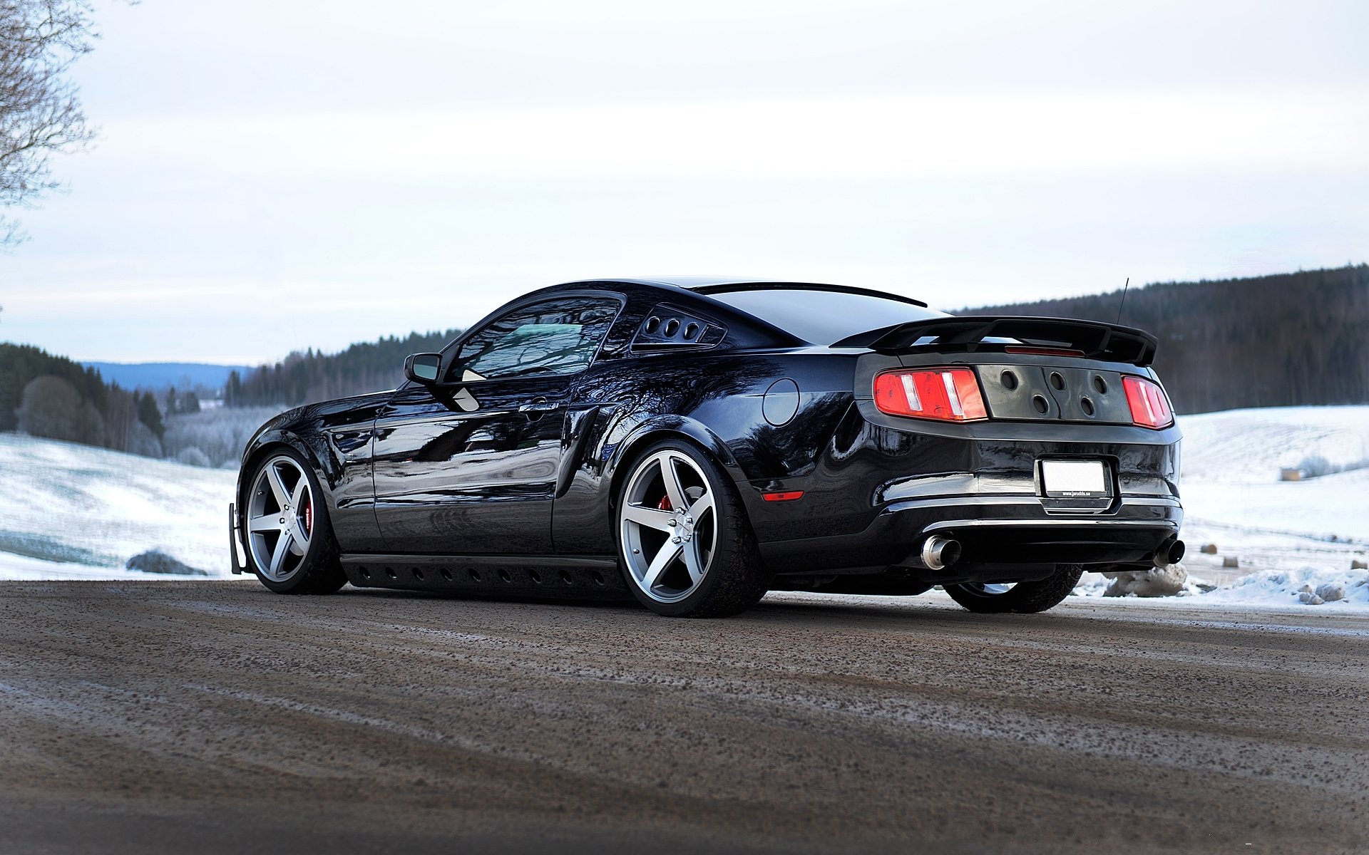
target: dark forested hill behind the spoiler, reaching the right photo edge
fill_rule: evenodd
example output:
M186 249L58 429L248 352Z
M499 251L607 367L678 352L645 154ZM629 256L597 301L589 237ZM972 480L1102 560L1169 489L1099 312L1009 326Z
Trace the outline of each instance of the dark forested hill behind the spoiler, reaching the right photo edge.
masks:
M965 309L1117 320L1121 290ZM1369 404L1369 264L1132 289L1121 323L1160 339L1175 408Z

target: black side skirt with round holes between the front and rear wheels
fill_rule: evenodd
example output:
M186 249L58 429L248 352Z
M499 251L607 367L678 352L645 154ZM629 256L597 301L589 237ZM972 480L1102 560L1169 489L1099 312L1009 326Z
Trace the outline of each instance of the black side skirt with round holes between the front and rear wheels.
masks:
M486 596L632 599L617 560L557 555L342 555L359 588L444 591Z

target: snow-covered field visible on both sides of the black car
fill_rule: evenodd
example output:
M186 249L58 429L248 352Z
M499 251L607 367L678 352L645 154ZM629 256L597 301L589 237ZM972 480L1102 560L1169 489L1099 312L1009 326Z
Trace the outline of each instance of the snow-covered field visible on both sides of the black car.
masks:
M1180 425L1190 581L1164 602L1306 609L1339 587L1320 609L1369 613L1369 570L1351 569L1369 560L1369 406L1203 413ZM1284 468L1317 475L1283 482ZM146 579L125 562L151 549L229 576L233 482L231 471L0 434L0 579ZM1105 587L1090 575L1077 594ZM1125 601L1135 598L1108 598Z

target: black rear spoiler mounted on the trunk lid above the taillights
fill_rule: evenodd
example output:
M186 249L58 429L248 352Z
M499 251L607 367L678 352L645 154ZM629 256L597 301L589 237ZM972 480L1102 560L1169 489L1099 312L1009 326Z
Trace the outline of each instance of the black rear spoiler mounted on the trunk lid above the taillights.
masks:
M964 349L973 353L986 338L1012 338L1024 345L1080 350L1088 358L1150 365L1155 358L1154 335L1132 327L1072 317L1028 317L1014 315L961 315L912 320L843 338L832 347L906 350L921 346ZM993 343L993 342L988 342Z

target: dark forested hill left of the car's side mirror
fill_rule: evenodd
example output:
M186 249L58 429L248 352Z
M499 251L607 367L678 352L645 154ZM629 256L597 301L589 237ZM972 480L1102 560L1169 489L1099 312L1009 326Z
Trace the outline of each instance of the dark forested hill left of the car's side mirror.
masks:
M411 332L352 345L341 353L296 352L275 365L230 373L223 401L229 406L296 406L394 389L404 382L404 357L441 350L460 334Z

